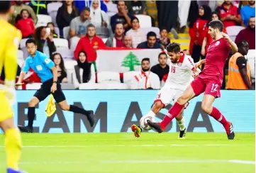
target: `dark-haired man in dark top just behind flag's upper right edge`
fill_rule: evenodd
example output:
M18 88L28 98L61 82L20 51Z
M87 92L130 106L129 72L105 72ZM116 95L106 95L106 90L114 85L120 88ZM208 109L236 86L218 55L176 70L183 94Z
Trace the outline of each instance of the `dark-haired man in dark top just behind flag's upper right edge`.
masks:
M147 34L147 41L138 44L137 48L140 49L162 49L160 43L157 43L157 35L150 31Z

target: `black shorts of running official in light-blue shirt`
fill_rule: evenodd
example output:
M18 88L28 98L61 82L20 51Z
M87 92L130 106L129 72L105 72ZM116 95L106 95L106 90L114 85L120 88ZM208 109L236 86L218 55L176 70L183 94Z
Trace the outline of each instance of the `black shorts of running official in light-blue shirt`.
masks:
M38 91L35 92L34 96L38 98L39 101L43 101L46 97L48 97L51 94L50 88L52 87L52 83L52 79L43 82L40 89L38 89ZM55 91L52 95L57 103L66 100L66 97L62 92L60 82L57 82L57 91Z

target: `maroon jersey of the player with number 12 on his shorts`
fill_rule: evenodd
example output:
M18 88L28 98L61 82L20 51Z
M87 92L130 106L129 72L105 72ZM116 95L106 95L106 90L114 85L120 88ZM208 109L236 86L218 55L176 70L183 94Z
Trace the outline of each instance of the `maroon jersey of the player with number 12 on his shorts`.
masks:
M228 59L230 45L225 38L213 40L208 48L206 64L199 74L200 78L213 78L223 80L223 68Z

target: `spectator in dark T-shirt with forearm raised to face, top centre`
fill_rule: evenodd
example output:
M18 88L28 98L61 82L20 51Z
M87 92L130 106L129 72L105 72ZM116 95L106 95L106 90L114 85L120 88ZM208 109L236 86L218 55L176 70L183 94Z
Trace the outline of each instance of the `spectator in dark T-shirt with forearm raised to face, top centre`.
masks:
M118 13L110 19L111 28L114 32L116 23L123 23L123 27L125 28L125 33L130 29L130 19L133 18L133 15L127 13L126 11L126 1L118 1L117 2Z

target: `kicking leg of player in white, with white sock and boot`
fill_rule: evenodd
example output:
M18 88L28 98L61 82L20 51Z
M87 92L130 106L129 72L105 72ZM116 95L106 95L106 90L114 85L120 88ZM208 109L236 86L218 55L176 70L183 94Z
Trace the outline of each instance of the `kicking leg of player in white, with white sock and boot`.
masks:
M154 117L159 111L163 108L163 104L161 101L155 101L154 105L152 106L151 110L145 115L145 117ZM143 131L143 128L140 125L133 124L130 127L133 130L133 133L136 138L140 137L140 133Z

